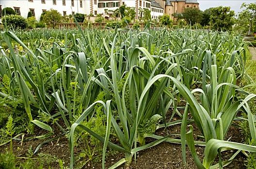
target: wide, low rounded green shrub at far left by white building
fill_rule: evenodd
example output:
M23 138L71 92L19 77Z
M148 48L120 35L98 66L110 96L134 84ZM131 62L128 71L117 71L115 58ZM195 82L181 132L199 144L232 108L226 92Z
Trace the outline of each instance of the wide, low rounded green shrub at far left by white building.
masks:
M2 23L5 24L7 27L10 28L21 28L21 29L25 29L27 28L27 22L26 19L20 15L5 15L2 18Z

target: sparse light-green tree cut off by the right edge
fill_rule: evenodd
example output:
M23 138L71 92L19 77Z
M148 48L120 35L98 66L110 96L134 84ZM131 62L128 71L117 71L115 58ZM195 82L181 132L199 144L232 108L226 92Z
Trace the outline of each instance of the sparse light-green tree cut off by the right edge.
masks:
M245 8L245 10L243 10L240 14L244 20L249 21L248 35L250 35L252 28L256 23L256 3L242 3L241 8Z

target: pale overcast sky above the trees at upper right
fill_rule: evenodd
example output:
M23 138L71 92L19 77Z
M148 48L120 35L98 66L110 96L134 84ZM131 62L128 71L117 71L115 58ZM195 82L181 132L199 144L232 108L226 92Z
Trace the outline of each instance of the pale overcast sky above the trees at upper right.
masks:
M230 6L231 10L238 14L241 9L241 4L245 3L256 3L256 0L197 0L199 3L200 10L204 11L211 7L217 6Z

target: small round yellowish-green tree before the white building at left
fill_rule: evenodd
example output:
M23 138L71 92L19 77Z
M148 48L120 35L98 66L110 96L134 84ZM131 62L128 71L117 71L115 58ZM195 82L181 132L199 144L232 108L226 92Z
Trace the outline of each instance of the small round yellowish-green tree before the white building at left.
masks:
M46 23L48 27L56 28L57 24L61 21L61 14L51 9L50 11L46 11L43 15L43 21Z

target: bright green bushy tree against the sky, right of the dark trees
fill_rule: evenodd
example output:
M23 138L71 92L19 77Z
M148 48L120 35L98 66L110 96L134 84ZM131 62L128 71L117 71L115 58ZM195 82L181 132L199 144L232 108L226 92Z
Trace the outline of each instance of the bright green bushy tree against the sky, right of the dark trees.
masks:
M215 30L230 30L234 25L235 12L230 7L219 6L211 9L210 26Z

